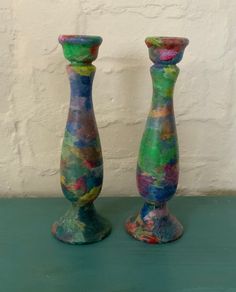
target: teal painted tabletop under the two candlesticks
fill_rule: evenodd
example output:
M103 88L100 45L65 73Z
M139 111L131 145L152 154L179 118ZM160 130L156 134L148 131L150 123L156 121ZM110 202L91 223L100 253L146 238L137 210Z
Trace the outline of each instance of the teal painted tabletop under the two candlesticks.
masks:
M71 246L50 226L61 199L0 200L0 292L236 292L236 197L177 197L169 206L184 225L173 243L148 245L124 221L141 198L99 198L113 225L105 240Z

